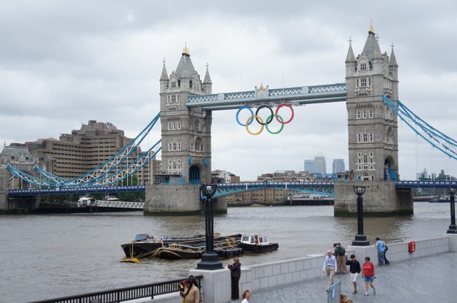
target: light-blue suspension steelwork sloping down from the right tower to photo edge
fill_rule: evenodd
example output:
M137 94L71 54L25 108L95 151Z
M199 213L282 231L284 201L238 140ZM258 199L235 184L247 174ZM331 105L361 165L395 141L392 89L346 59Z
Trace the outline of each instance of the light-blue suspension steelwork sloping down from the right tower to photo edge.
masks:
M434 148L440 150L441 153L457 160L456 140L453 140L453 138L450 138L436 128L433 128L400 101L391 101L386 96L383 96L383 101L413 130L414 133L420 135L421 138L430 143Z

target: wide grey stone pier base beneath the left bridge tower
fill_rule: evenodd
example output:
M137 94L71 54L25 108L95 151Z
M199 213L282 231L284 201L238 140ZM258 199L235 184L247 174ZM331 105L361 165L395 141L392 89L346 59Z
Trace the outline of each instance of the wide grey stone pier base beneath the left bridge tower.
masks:
M227 202L212 200L215 213L227 213ZM144 215L201 215L204 209L199 185L146 185Z

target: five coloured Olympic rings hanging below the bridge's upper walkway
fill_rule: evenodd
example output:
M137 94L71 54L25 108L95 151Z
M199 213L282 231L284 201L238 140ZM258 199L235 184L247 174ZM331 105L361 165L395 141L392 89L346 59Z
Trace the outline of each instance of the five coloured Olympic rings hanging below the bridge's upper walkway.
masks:
M282 108L283 106L286 106L287 108L290 108L291 110L291 118L289 118L287 121L284 121L284 119L281 117L281 115L278 114L278 111L280 108ZM243 110L243 109L248 109L248 111L251 112L251 117L249 117L247 120L246 120L246 123L241 123L240 120L239 120L239 113ZM271 115L268 115L268 118L266 118L266 121L265 123L263 123L263 119L260 117L260 115L258 115L259 111L261 110L261 108L268 108L270 110L270 113ZM273 113L273 110L271 109L270 106L259 106L256 110L256 114L254 115L252 109L248 106L241 106L240 108L238 108L238 111L236 112L236 122L241 125L241 126L244 126L246 128L246 131L251 134L251 135L259 135L262 130L263 130L263 126L266 126L266 130L268 131L268 133L271 133L273 135L276 135L278 133L281 133L281 131L283 130L284 128L284 124L287 124L287 123L290 123L291 120L293 120L293 117L294 117L295 113L293 112L293 108L291 105L289 104L286 104L286 103L283 103L281 105L279 105L277 108L276 108L276 111L275 113ZM272 121L273 121L273 117L276 118L276 120L278 121L278 123L281 124L281 127L279 128L279 130L277 130L276 132L273 132L271 131L269 128L268 128L268 124L270 124ZM253 133L251 132L251 130L249 130L248 128L248 125L251 125L251 123L253 122L253 120L256 119L257 123L261 125L261 128L258 130L257 133Z

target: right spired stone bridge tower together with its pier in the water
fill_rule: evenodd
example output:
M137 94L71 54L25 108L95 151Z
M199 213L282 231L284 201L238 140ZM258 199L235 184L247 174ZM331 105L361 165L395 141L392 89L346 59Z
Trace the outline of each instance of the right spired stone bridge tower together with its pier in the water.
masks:
M364 212L402 215L413 211L411 190L396 190L398 180L398 123L383 101L398 100L398 64L381 53L370 26L363 51L354 56L351 41L346 56L349 170L354 179L335 183L335 215L353 215L353 186L366 186Z

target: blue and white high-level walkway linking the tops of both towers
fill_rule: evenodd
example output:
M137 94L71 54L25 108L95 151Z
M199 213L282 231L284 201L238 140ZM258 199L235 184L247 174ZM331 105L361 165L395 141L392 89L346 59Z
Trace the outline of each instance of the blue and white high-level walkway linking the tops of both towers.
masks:
M269 89L267 86L265 91L265 96L258 96L256 91L189 96L186 106L189 108L198 107L204 110L221 111L238 109L240 106L256 107L262 103L304 105L346 101L347 93L346 83L275 89Z

